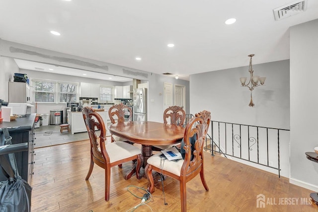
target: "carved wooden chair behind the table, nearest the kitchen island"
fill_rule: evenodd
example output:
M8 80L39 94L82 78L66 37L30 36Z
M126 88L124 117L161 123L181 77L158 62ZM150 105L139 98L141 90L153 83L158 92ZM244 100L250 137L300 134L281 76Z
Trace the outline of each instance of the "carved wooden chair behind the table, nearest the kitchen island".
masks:
M125 122L125 115L127 115L128 120L132 120L133 117L133 111L131 109L131 107L123 105L123 104L119 104L119 105L114 105L111 106L108 110L108 115L110 118L110 121L112 123L116 123L117 122ZM125 141L126 143L130 143L133 144L133 142L127 141L124 138L121 138L117 135L111 135L111 142L114 141Z

